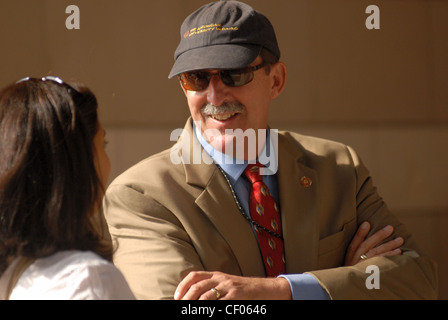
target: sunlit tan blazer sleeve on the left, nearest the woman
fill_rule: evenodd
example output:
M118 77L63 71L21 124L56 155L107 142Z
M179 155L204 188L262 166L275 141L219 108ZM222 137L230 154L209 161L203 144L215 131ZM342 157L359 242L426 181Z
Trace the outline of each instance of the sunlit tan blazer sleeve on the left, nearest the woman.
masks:
M104 212L114 263L137 299L173 299L183 277L203 269L179 220L138 188L112 184Z

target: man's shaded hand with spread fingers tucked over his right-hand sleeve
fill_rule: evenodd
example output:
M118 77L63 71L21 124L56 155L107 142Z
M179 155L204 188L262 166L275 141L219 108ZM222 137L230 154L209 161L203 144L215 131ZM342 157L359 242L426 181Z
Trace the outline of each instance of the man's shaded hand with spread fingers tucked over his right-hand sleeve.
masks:
M347 249L345 266L353 266L360 262L362 260L361 255L365 255L366 258L373 258L401 254L400 246L404 243L401 237L380 245L384 239L393 233L394 228L392 226L386 226L366 239L369 230L370 223L364 222L361 224Z

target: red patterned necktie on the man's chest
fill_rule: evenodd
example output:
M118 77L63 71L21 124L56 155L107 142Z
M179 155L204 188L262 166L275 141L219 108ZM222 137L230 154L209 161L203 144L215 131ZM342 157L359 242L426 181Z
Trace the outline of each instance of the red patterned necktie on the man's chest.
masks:
M252 183L249 200L250 215L256 223L254 227L263 255L265 270L268 277L276 277L285 273L282 225L275 199L260 175L262 167L263 165L259 163L249 164L244 174Z

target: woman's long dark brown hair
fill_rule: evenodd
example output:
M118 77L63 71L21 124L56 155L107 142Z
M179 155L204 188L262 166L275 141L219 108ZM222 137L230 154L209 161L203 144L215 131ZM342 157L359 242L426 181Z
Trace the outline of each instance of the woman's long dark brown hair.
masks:
M61 250L112 260L94 222L104 194L98 127L86 87L29 79L0 91L0 274L18 256Z

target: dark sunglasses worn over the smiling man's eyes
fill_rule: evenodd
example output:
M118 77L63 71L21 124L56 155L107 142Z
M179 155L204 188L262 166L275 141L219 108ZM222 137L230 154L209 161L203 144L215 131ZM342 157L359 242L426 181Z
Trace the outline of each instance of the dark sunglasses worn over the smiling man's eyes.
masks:
M180 83L185 90L202 91L208 88L210 79L219 75L221 81L229 87L241 87L254 79L254 72L265 67L266 62L262 62L254 67L242 69L219 70L216 72L190 71L179 76Z

